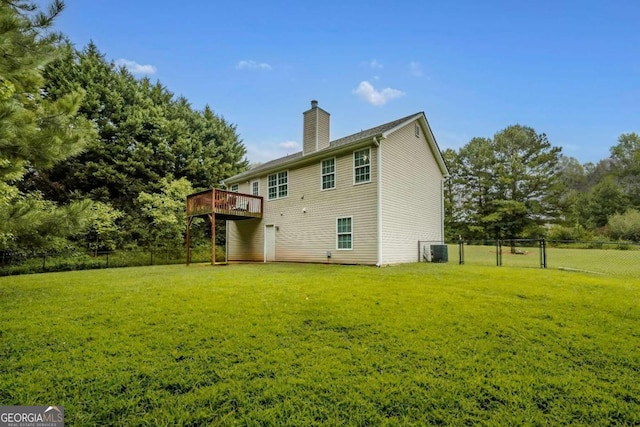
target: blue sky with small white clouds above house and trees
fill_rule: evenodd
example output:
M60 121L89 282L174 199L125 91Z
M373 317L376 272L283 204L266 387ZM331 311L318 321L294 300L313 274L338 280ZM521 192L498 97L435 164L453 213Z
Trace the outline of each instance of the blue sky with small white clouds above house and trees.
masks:
M441 149L512 124L581 162L640 132L640 2L66 0L57 21L237 126L253 162L424 111Z

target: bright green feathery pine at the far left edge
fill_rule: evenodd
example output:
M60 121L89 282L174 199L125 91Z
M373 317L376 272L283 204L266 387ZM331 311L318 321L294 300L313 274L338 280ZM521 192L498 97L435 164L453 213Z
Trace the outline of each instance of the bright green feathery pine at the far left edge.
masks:
M57 207L17 186L28 171L51 168L95 135L91 123L77 115L81 90L55 100L42 92L42 67L56 58L61 40L49 30L63 8L60 0L46 12L30 2L0 0L0 243L5 248L18 241L51 244L77 231L67 225L80 226L88 207L81 202Z

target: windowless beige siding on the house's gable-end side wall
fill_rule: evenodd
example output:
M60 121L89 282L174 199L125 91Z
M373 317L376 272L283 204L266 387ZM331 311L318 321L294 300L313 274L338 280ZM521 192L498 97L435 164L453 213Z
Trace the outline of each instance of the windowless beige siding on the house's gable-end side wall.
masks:
M418 260L418 240L442 236L442 173L415 123L382 141L382 263Z

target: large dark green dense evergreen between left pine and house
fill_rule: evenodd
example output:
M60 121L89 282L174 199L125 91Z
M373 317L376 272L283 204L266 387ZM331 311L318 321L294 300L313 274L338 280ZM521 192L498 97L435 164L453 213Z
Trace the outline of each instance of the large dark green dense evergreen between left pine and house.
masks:
M208 106L193 110L160 82L136 79L107 61L94 43L81 51L67 46L45 76L51 99L86 90L79 112L99 137L79 156L30 174L24 189L58 201L89 197L110 204L122 213L118 225L125 241L148 244L150 217L140 213L138 199L162 194L163 178L186 178L206 189L247 166L234 125Z

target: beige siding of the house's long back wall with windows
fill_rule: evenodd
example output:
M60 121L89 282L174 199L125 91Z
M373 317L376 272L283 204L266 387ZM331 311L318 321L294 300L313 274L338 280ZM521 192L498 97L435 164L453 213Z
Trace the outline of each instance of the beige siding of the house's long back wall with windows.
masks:
M333 157L333 156L331 156ZM263 260L264 226L277 227L276 260L375 264L377 262L376 149L371 147L371 182L353 184L353 151L336 157L336 188L321 190L321 161L289 170L286 198L266 198L266 176L260 179L264 214L259 224L228 222L228 258ZM303 210L306 210L304 212ZM353 218L353 249L336 249L336 218ZM259 251L259 255L257 252ZM327 258L327 252L331 258Z

